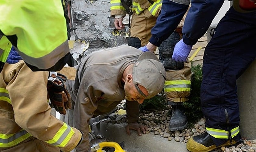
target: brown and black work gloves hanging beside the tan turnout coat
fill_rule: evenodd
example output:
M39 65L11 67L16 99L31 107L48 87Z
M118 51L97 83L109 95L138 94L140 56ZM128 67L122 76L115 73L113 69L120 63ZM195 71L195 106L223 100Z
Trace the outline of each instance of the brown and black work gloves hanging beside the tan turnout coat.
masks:
M71 108L70 94L64 84L66 80L65 75L50 72L47 84L48 98L50 98L51 107L63 115L66 114L67 109Z

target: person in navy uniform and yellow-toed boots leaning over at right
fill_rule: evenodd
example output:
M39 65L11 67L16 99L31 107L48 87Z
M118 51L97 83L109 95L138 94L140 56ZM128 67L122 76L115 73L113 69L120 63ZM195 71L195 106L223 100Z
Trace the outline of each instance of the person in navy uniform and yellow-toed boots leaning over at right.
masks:
M183 38L175 45L172 59L187 60L192 46L207 31L223 2L224 0L191 0L191 8L182 29ZM256 11L255 8L252 9L255 5L254 1L248 1L251 9L241 9L240 5L244 2L246 1L233 1L204 50L201 107L206 118L206 132L188 140L187 149L190 151L207 152L241 140L236 79L256 57ZM172 9L166 9L160 16L170 19L170 22L165 22L165 27L155 31L156 38L156 35L162 35L163 39L168 37L187 7L180 4L179 0L169 1L162 8L165 6ZM160 16L155 29L164 24ZM168 29L171 30L170 33L161 33ZM155 40L151 40L148 47L154 47L154 42L161 41Z

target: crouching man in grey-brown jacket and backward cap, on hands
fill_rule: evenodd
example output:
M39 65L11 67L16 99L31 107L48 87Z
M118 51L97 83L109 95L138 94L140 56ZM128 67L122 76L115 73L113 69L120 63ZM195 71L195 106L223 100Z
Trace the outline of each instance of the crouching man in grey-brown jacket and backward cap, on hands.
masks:
M166 78L165 69L155 54L130 46L114 47L91 53L76 69L75 80L66 81L73 103L68 118L73 118L73 122L64 116L84 133L77 151L91 151L89 120L111 112L124 99L127 134L130 135L130 130L137 130L139 136L146 133L148 128L137 123L139 104L161 92Z

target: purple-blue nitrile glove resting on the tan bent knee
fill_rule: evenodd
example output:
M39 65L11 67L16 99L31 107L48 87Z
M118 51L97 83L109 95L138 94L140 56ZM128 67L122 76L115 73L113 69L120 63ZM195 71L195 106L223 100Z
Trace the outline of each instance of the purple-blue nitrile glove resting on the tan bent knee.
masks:
M174 47L172 59L177 62L186 62L191 49L192 45L185 44L181 39Z

